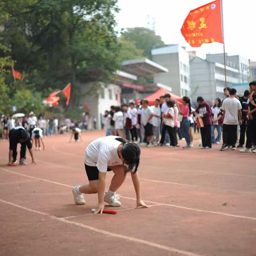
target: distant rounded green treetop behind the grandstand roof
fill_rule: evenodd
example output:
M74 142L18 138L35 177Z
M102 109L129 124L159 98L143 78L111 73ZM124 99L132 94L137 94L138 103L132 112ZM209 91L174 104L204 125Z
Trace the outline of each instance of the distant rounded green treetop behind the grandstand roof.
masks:
M143 50L143 56L151 59L151 50L164 46L161 36L157 36L155 31L149 28L127 28L122 37L129 42L133 42L137 49Z

